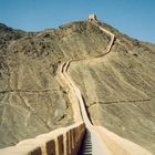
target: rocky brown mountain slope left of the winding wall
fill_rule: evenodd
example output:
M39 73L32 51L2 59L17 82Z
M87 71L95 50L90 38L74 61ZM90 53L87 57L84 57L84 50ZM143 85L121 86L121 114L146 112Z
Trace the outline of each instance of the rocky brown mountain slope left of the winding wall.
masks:
M16 31L6 29L7 43L0 49L0 147L72 124L71 103L55 80L58 65L97 54L110 39L86 21L24 32L17 40L8 37Z

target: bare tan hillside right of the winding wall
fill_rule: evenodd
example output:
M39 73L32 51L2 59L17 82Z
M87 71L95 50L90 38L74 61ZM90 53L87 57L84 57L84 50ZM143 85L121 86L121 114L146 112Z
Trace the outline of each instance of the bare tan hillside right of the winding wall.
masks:
M73 62L70 76L94 124L155 153L155 52L114 33L111 53L97 61Z

